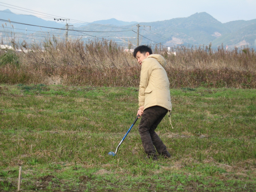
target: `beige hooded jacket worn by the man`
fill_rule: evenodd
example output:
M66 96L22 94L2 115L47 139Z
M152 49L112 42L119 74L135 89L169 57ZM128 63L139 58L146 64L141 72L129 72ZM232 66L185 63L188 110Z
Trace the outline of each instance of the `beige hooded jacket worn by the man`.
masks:
M166 60L158 54L151 54L142 61L139 106L144 106L144 110L156 105L172 110L170 83L165 66Z

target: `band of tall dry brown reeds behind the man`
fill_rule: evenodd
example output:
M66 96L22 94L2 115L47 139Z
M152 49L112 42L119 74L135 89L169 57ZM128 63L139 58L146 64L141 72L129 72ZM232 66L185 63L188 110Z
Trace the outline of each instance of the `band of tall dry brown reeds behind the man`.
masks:
M105 40L84 44L53 39L39 45L17 45L19 52L0 51L0 83L62 84L72 86L138 87L140 66L129 52ZM256 54L243 48L213 51L202 48L176 48L162 54L171 88L234 87L256 88Z

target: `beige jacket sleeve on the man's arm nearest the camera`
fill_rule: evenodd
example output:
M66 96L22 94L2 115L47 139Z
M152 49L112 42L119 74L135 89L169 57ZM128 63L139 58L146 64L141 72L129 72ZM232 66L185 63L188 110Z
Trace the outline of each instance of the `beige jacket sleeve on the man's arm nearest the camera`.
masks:
M145 90L148 86L149 78L152 73L152 65L149 59L146 59L140 71L140 90L139 90L139 106L144 106Z

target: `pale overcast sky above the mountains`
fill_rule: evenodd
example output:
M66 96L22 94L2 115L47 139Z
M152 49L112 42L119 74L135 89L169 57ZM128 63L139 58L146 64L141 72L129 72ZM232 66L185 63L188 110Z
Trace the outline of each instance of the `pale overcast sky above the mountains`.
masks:
M0 0L0 10L32 14L21 8L83 22L111 18L154 22L196 12L207 12L222 23L256 19L256 0Z

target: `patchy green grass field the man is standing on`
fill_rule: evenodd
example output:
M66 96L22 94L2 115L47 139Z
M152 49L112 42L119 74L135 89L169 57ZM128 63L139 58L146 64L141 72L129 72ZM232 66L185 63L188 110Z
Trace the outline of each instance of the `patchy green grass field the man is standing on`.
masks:
M0 85L0 191L248 191L256 188L256 90L172 89L172 158L147 160L137 88Z

